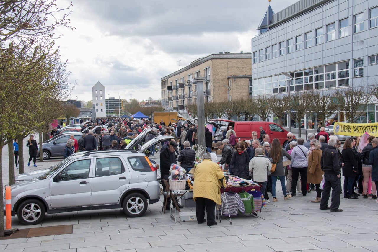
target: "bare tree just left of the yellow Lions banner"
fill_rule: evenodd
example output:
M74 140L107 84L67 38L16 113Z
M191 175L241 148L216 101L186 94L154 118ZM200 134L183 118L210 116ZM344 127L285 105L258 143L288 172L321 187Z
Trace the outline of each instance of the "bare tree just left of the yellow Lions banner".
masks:
M334 94L329 90L313 90L308 94L310 110L316 113L316 117L320 118L324 125L325 118L335 113L338 107Z

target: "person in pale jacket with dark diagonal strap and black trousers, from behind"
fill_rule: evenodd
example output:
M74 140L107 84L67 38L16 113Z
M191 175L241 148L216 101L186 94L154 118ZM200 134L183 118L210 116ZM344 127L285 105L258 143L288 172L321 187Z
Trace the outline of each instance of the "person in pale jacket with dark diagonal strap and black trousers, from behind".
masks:
M298 175L301 174L301 182L302 182L302 195L307 195L307 148L303 146L304 144L303 138L297 139L297 146L293 148L291 152L291 176L293 181L291 182L291 196L296 196L297 191L297 180Z

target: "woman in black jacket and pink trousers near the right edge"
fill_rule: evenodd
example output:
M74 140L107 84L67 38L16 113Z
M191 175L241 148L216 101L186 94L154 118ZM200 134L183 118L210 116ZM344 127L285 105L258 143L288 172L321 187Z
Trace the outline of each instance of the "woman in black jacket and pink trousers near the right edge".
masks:
M362 172L363 172L363 198L367 199L367 189L368 189L368 181L372 178L372 165L369 163L370 158L370 152L374 149L372 145L372 140L375 138L375 136L369 136L367 138L368 144L366 147L363 148L361 152L361 160L362 160ZM376 187L375 183L372 183L373 187L373 199L376 199Z

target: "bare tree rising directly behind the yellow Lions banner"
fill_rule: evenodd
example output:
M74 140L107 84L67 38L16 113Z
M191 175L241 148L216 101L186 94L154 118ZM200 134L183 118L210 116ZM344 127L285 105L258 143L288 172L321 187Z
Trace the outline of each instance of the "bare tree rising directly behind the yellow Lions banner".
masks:
M356 113L359 110L365 110L370 96L363 86L347 87L338 89L335 92L335 98L338 102L339 109L345 111L345 116L351 123L355 122ZM362 108L360 108L362 106Z

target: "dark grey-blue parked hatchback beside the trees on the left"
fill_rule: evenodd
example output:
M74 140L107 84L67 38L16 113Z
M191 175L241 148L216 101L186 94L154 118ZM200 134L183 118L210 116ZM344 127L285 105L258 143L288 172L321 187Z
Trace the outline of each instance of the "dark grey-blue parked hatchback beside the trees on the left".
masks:
M70 135L73 134L76 140L79 140L82 133L64 133L54 136L42 143L42 158L43 160L49 159L50 157L63 156L64 147L67 144Z

